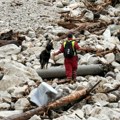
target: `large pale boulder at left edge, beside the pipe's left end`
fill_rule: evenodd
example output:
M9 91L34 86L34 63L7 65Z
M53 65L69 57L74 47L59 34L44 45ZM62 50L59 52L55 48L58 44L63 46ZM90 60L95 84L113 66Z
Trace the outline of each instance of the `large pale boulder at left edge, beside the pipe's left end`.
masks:
M26 67L21 63L15 61L0 62L0 66L5 69L4 77L0 81L0 90L6 90L9 87L30 80L42 81L34 69Z

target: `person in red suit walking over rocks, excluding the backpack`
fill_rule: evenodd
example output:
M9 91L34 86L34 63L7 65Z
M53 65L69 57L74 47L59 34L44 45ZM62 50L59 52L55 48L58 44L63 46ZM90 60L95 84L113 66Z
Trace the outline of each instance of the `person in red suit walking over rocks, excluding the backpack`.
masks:
M74 36L73 34L68 34L68 40L69 41L75 41L74 40ZM64 57L64 66L65 66L65 71L66 71L66 77L67 80L70 82L75 82L76 81L76 76L77 76L77 68L78 68L78 56L76 51L86 51L87 48L82 48L78 45L78 43L75 41L74 42L74 56L71 58L66 58ZM60 54L60 53L64 53L65 47L64 47L64 43L61 45L61 48L57 51L53 53L53 57Z

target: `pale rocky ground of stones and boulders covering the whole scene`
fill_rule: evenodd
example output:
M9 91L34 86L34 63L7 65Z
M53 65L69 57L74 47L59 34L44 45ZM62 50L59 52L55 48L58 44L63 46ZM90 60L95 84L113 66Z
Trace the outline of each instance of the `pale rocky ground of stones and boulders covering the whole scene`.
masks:
M7 44L0 47L1 119L37 108L30 101L29 95L44 81L58 92L57 99L60 99L74 91L89 89L101 80L90 98L83 99L70 109L54 110L52 117L54 120L120 120L120 4L119 0L114 6L109 2L110 0L0 1L0 36L10 30L24 36L21 46ZM73 31L82 24L85 25L75 32L79 45L100 49L102 52L79 53L79 65L101 64L104 73L78 76L74 84L57 84L59 77L46 80L39 76L37 71L42 71L39 54L47 41L53 40L53 53L60 47L63 39L58 39L63 33L68 33L71 29ZM56 64L64 68L62 54L55 60ZM53 65L51 57L48 69ZM45 120L45 117L47 115L44 118L33 115L29 120Z

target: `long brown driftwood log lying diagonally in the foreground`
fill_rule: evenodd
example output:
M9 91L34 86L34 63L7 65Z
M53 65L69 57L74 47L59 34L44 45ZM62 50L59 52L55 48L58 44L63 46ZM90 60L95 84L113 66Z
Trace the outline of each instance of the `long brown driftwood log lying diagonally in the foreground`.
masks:
M43 113L47 113L49 110L54 110L57 108L61 108L62 106L66 106L69 103L77 103L81 101L82 99L86 98L90 92L100 83L101 81L98 81L91 89L86 90L79 90L71 93L68 96L65 96L59 100L56 100L54 102L49 103L47 106L38 107L36 109L30 110L28 112L13 115L10 117L5 118L4 120L28 120L33 115L42 115Z

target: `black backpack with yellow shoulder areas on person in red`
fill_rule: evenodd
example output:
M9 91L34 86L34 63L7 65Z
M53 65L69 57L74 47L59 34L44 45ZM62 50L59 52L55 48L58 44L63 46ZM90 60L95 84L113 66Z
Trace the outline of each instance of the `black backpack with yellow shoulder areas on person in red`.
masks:
M64 42L64 57L65 58L72 58L74 56L74 53L75 53L74 44L75 44L75 41Z

